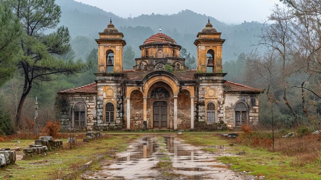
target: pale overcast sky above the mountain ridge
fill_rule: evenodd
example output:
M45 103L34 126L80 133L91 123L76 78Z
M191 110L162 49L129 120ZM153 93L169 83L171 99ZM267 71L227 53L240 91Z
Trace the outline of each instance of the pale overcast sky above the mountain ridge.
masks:
M262 22L279 0L75 0L121 17L141 14L174 14L189 9L228 24Z

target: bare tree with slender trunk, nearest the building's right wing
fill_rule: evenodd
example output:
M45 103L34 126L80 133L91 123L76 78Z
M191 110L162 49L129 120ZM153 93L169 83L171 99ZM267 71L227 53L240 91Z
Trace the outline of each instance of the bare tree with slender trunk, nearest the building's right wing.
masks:
M258 35L258 37L260 38L260 45L266 46L269 51L275 50L280 57L280 86L282 87L283 91L283 99L293 114L295 122L297 122L297 114L292 108L291 102L287 98L287 89L290 87L287 78L297 71L292 61L293 27L291 17L291 9L279 8L276 5L273 9L273 13L269 16L268 21L264 24L262 32ZM292 123L294 124L294 122Z

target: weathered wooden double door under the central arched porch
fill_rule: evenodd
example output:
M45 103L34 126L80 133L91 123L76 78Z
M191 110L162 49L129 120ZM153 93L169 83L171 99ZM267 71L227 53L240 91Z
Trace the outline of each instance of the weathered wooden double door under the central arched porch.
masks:
M167 128L167 103L164 101L153 104L154 128Z

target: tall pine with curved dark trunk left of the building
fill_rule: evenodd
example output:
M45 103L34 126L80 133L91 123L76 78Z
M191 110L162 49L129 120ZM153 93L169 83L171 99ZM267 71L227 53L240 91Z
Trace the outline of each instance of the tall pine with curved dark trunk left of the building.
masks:
M24 101L34 83L50 81L52 74L74 74L86 66L72 59L61 58L69 52L69 31L58 27L50 34L44 32L56 28L61 9L54 0L8 0L13 13L23 27L19 45L23 55L18 59L17 68L24 76L24 87L17 107L15 124L21 125L21 113Z

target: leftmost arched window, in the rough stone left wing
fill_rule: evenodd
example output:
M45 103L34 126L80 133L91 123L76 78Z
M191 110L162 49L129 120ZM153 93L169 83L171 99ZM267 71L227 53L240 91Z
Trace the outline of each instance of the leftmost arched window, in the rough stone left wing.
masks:
M73 127L86 126L86 107L83 103L76 103L73 107Z

